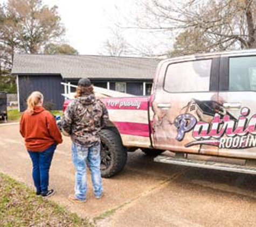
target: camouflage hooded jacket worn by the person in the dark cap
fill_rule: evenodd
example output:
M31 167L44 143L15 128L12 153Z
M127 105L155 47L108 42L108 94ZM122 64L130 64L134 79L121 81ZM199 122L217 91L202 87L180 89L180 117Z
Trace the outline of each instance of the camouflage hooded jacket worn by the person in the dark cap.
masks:
M64 112L61 126L74 143L91 147L100 142L99 132L108 123L108 111L95 95L75 98Z

